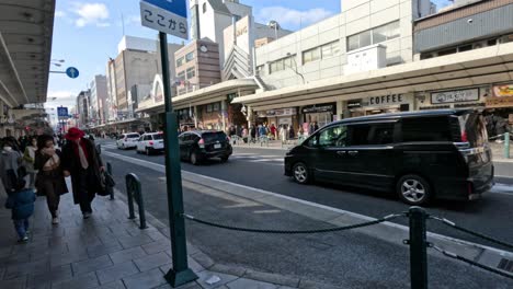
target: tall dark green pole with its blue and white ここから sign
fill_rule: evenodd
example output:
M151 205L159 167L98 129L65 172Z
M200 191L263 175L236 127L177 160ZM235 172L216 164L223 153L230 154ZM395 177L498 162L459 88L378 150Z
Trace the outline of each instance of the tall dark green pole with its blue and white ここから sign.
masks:
M187 9L185 0L142 0L140 1L142 26L159 31L162 62L162 80L166 104L166 178L171 229L171 251L173 266L166 275L172 287L179 287L197 279L187 264L185 219L183 218L182 172L178 143L178 118L171 102L169 74L168 34L187 39Z

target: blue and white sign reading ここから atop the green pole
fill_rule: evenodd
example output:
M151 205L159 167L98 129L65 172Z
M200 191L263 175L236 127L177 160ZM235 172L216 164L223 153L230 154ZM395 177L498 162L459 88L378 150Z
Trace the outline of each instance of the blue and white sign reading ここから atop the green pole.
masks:
M140 1L142 26L187 39L187 5L184 0Z

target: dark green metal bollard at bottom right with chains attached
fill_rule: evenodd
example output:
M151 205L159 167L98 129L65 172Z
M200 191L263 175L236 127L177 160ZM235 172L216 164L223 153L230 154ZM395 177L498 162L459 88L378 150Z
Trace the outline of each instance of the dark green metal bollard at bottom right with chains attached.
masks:
M412 289L428 289L428 240L425 220L428 215L421 207L411 207L410 218L410 278Z

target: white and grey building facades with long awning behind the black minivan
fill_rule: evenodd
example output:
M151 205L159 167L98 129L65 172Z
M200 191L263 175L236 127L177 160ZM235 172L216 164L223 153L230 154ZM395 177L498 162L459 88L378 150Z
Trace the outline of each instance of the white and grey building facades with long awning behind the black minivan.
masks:
M510 105L511 4L458 1L434 13L430 1L343 1L341 14L256 48L265 89L235 103L252 123L306 131L361 115Z

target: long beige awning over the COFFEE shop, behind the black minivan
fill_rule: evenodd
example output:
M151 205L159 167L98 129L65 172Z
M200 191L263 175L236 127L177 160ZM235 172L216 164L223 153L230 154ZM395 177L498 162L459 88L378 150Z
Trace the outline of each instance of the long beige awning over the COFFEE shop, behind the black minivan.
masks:
M513 43L237 97L253 111L513 81Z

